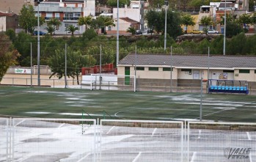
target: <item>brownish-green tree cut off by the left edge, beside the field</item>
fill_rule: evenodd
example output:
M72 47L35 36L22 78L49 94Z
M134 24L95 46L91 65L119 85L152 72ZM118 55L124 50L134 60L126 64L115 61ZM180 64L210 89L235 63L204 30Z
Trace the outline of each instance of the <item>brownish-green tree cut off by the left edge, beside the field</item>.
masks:
M4 33L0 33L0 81L11 65L16 63L18 51L12 47L12 42Z

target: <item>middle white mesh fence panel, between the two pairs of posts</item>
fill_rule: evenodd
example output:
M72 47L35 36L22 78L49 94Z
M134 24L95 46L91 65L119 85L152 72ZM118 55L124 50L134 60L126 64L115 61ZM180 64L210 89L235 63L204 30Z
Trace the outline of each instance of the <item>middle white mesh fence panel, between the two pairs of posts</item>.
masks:
M183 122L100 120L100 160L183 161Z

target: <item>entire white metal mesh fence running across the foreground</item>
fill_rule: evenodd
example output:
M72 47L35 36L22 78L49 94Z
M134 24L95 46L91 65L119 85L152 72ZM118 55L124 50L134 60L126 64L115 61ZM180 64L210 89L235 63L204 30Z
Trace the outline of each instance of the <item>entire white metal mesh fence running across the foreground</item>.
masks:
M0 161L256 161L256 123L0 118Z

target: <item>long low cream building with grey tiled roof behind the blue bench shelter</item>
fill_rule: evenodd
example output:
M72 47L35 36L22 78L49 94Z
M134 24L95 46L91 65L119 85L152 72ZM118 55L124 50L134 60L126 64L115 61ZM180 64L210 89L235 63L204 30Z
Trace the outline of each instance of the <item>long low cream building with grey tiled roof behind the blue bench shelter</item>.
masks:
M172 72L171 72L172 67ZM117 65L117 74L143 82L200 84L200 79L248 81L256 87L256 56L129 54Z

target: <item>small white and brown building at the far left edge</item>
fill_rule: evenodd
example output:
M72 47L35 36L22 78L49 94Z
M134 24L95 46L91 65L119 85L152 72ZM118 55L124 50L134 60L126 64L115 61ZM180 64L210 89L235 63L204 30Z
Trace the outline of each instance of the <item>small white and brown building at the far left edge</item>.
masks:
M0 12L0 32L6 32L8 29L18 29L18 15Z

